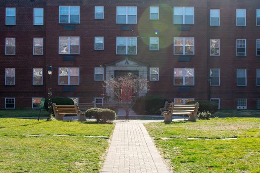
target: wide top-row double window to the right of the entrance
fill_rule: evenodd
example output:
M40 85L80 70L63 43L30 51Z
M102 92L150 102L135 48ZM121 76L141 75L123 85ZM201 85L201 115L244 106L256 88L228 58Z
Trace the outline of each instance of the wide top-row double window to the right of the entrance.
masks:
M194 7L174 7L174 24L194 24Z

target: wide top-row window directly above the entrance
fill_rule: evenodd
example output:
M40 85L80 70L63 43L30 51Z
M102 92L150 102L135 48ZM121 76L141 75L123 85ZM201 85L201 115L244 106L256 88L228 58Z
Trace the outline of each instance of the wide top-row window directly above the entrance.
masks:
M137 6L117 6L117 24L137 24Z

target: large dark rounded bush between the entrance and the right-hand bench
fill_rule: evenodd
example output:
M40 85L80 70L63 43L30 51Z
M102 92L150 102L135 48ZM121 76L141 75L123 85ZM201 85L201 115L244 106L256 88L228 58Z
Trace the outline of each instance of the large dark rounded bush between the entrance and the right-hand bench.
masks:
M156 96L147 95L137 98L132 109L139 115L160 115L159 109L164 106L167 99Z

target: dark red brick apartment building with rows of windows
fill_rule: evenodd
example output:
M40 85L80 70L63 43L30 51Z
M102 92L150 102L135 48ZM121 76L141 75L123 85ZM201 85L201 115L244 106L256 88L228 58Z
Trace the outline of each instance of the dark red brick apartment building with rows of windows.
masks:
M148 94L260 109L259 0L0 0L0 109L52 94L104 103L133 72Z

